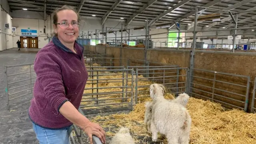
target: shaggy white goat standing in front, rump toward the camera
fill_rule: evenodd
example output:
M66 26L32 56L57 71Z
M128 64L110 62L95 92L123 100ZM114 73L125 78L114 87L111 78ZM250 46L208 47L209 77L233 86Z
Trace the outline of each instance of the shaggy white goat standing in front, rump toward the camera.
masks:
M156 142L157 133L166 136L168 144L188 144L191 117L188 110L181 104L164 98L161 84L150 85L150 97L153 100L150 130L152 141Z

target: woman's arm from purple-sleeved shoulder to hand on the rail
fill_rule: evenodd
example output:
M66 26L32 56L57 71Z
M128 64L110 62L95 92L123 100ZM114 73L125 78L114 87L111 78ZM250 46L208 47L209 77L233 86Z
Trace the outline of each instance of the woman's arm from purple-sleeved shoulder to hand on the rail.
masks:
M54 51L50 49L40 50L34 62L34 70L37 80L44 88L45 102L53 106L57 112L60 112L70 122L82 128L90 138L91 144L92 135L97 136L102 143L105 143L106 136L104 130L98 124L90 122L90 120L80 114L66 98L61 68Z

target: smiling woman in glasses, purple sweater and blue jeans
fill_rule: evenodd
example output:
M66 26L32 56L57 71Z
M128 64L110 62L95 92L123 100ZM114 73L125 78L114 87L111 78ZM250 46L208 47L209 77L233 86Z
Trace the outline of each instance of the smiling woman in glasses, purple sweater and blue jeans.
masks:
M105 143L104 130L78 112L88 72L84 65L83 46L76 42L79 15L70 6L53 14L55 36L36 55L37 78L29 108L40 144L69 144L72 124Z

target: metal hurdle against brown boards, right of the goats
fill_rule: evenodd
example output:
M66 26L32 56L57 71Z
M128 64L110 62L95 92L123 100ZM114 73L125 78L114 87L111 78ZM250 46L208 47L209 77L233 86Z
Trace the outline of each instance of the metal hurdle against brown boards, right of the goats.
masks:
M190 96L219 102L226 108L247 111L250 76L193 68Z

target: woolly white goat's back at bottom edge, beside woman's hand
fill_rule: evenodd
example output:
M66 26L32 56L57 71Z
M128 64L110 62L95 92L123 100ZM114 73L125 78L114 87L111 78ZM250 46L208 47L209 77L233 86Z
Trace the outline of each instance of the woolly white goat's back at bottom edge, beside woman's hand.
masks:
M135 144L128 128L121 127L109 144Z

